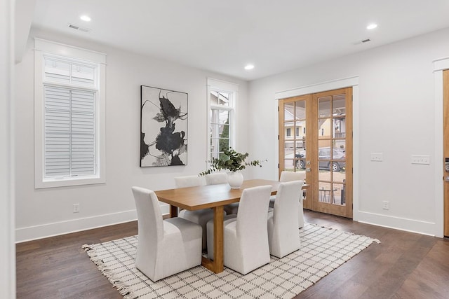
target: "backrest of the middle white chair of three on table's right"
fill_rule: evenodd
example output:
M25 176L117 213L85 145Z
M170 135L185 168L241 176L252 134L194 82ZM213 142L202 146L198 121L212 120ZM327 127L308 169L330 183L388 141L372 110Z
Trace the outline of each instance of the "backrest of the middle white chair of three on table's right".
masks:
M298 194L301 193L303 183L304 181L288 181L279 184L274 201L274 225L298 227Z

